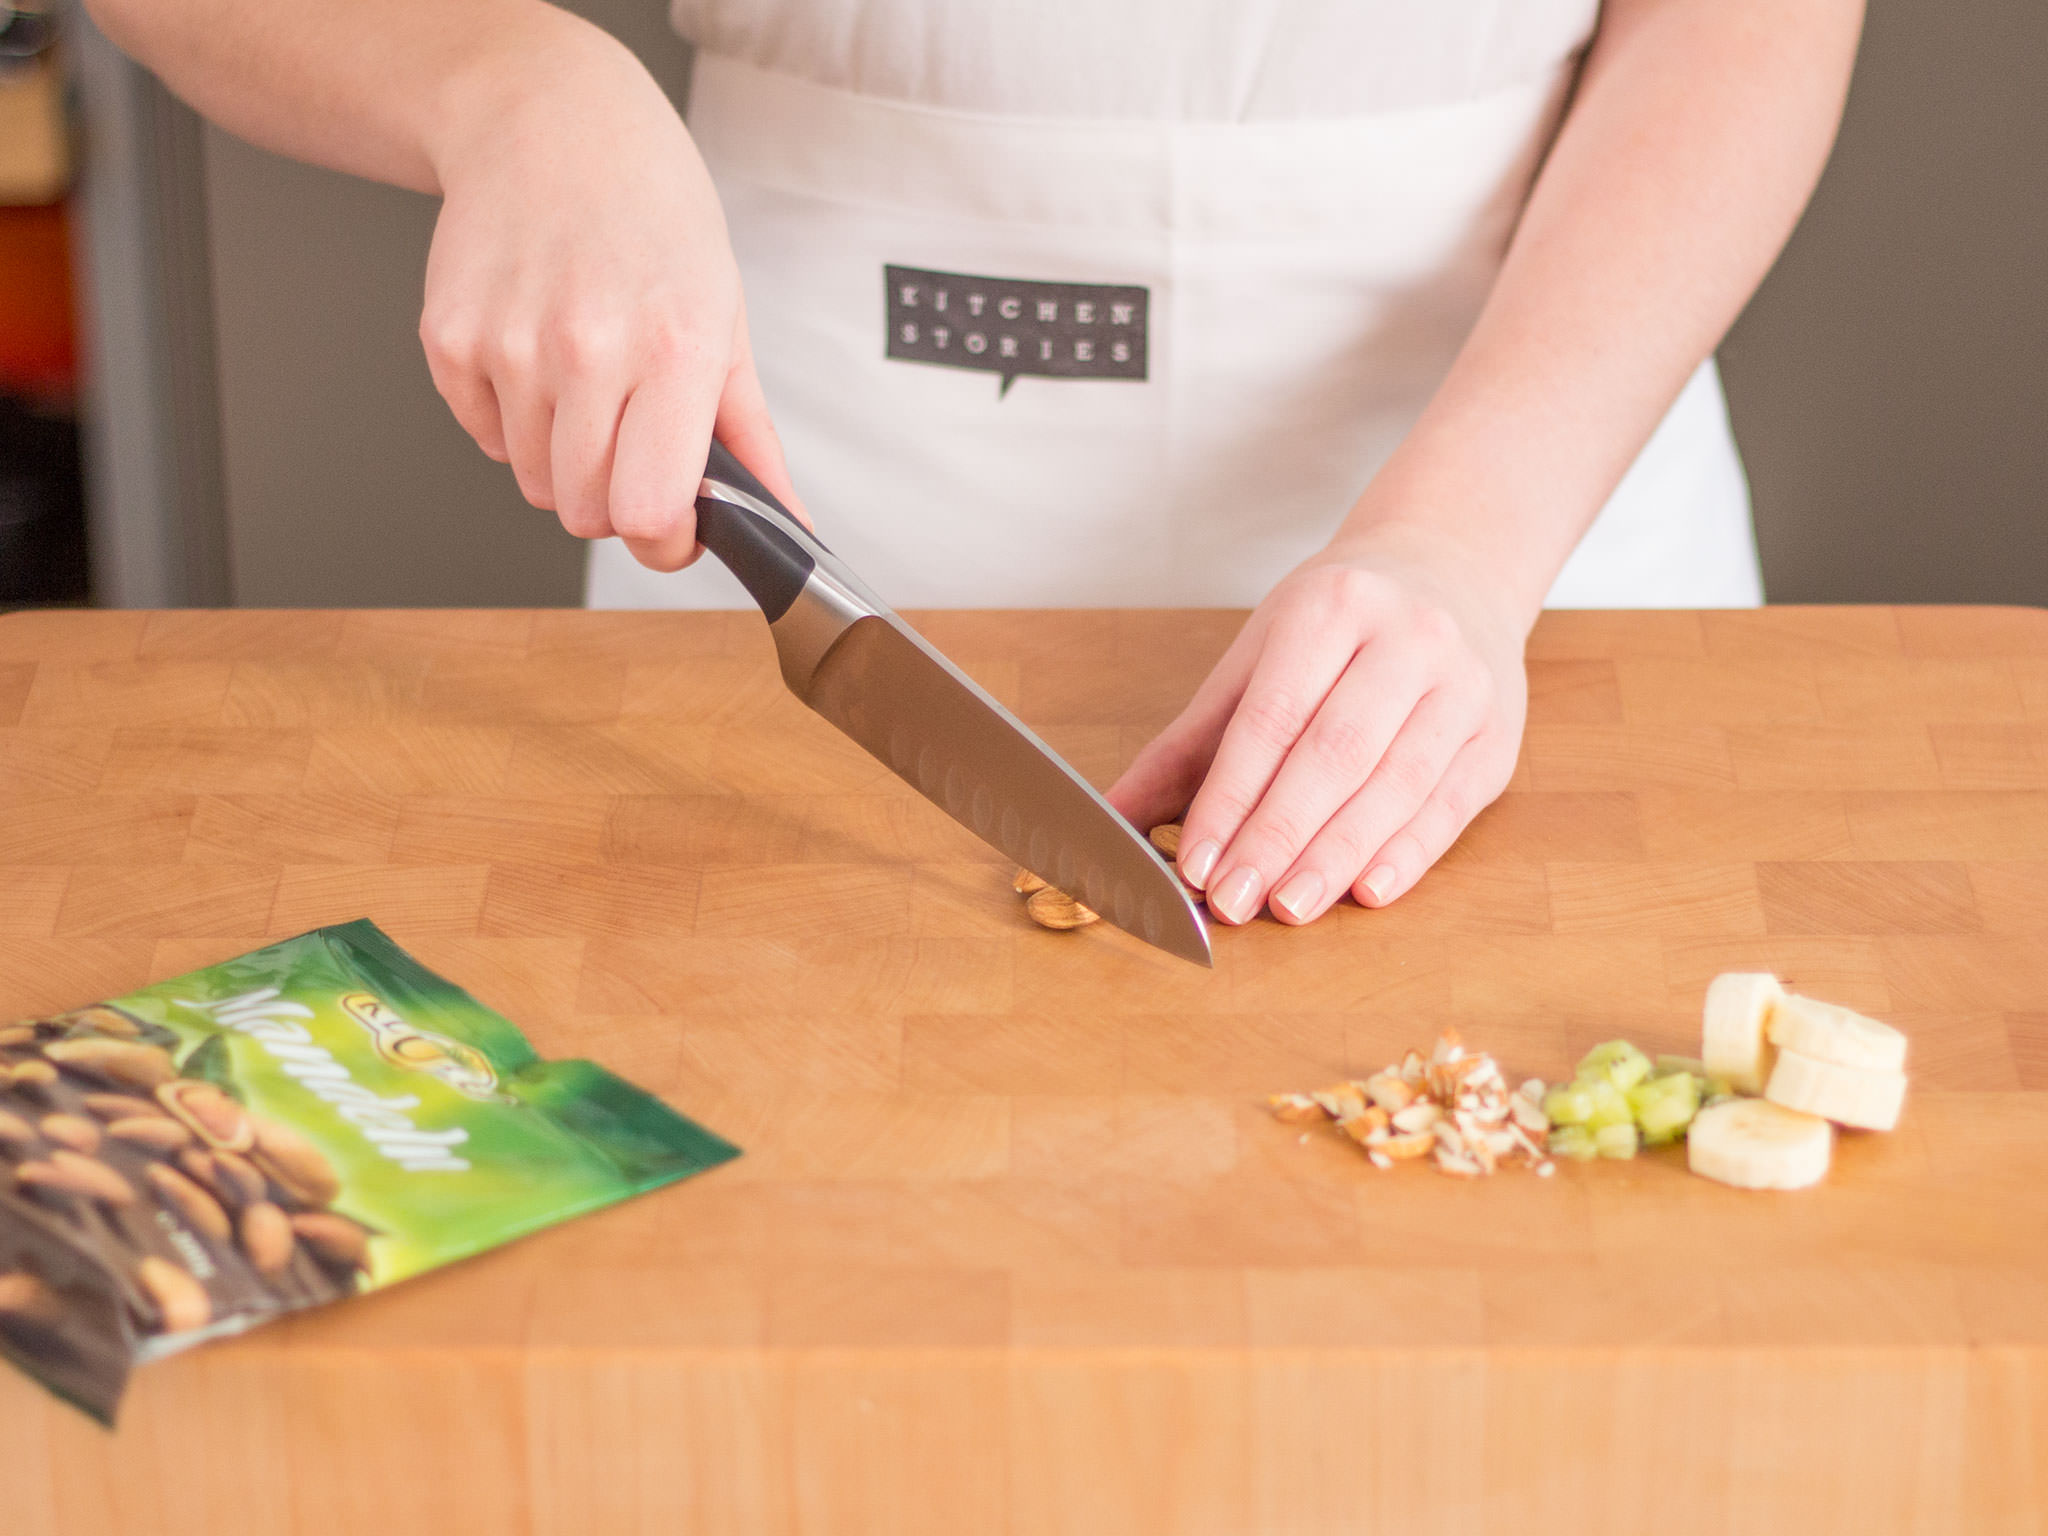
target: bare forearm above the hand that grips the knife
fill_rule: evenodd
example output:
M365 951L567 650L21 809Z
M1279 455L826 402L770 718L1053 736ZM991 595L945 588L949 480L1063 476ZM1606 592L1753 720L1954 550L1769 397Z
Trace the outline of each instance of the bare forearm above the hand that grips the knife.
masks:
M266 150L442 190L459 143L532 84L637 72L541 0L86 0L106 35L199 113Z

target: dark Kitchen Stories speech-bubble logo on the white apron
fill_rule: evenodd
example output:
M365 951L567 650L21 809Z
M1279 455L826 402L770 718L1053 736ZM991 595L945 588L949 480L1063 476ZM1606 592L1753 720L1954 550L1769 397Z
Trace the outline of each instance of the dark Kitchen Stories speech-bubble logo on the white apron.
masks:
M889 350L901 362L938 362L1038 379L1145 379L1149 289L1110 283L1032 283L885 266Z

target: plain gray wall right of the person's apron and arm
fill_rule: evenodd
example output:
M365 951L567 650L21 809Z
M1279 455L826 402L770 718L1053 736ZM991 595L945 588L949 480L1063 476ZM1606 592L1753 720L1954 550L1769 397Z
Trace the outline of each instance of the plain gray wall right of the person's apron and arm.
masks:
M2048 604L2044 0L1872 0L1722 373L1774 602Z

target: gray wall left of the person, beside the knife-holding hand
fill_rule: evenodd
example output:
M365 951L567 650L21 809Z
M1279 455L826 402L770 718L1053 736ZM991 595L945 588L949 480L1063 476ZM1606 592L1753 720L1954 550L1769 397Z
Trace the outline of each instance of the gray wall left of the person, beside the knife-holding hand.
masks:
M680 100L659 0L569 0ZM240 606L551 606L584 545L434 393L420 295L436 203L207 129L221 461Z

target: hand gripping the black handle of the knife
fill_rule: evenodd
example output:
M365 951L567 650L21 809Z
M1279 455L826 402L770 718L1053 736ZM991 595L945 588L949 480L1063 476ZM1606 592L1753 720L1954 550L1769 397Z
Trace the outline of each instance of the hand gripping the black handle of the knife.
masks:
M713 434L803 516L711 176L651 76L592 33L451 92L420 340L434 385L580 539L696 559Z

